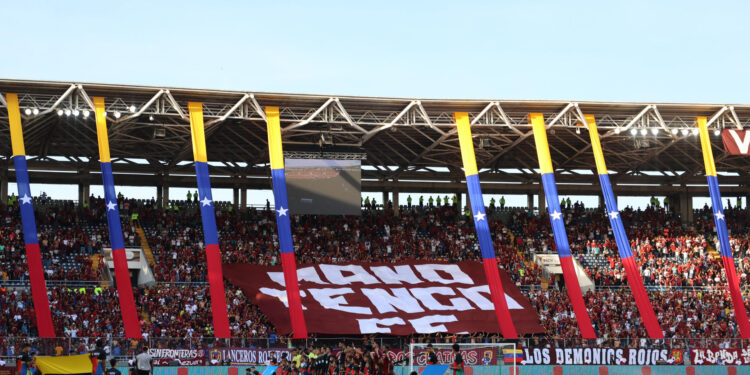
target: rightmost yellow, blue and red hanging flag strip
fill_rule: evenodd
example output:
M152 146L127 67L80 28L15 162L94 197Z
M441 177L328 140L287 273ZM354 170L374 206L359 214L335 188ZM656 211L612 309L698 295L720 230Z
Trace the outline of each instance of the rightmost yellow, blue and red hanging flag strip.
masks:
M734 257L732 248L729 245L729 234L727 233L727 222L724 217L724 208L721 204L721 192L719 191L719 179L716 176L716 164L714 164L714 154L711 149L711 139L708 137L708 128L705 117L696 117L698 130L701 136L701 150L703 150L703 164L706 166L706 179L708 180L708 192L711 195L711 207L714 213L714 223L716 224L716 235L719 237L719 253L724 263L724 272L727 277L727 286L729 295L732 297L734 305L734 316L737 319L737 325L740 328L740 335L743 339L750 338L750 322L747 319L747 310L742 301L739 280L737 279L737 270L734 267Z

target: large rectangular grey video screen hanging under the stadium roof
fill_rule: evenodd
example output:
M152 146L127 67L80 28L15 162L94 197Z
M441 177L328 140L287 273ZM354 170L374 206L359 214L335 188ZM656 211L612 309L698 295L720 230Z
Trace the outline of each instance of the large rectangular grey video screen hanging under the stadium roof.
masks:
M289 210L293 214L360 215L359 160L286 159Z

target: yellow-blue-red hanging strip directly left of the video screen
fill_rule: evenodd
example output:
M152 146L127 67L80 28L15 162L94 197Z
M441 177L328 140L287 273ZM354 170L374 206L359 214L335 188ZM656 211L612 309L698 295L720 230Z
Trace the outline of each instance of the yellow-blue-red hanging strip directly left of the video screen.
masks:
M281 267L284 271L286 296L289 301L289 317L292 322L292 337L307 338L307 325L302 314L302 298L299 294L297 279L297 261L294 257L292 242L292 223L289 220L289 203L284 174L284 152L281 147L281 120L279 107L266 107L266 125L268 129L268 153L271 160L271 180L273 182L274 208L276 209L276 228L279 232L281 250Z

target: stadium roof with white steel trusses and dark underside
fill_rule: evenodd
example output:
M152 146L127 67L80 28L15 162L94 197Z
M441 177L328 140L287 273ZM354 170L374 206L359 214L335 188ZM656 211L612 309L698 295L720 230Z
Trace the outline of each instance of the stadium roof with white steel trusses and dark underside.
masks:
M583 114L596 117L616 190L649 195L705 183L700 141L692 133L696 116L707 116L710 130L750 123L746 104L379 98L7 79L0 80L0 93L19 94L32 182L47 183L100 183L92 175L99 170L95 123L83 115L93 112L94 96L106 98L117 183L143 186L194 186L188 101L204 105L217 187L270 187L264 106L280 107L285 151L366 155L364 190L460 189L455 111L472 119L483 189L505 193L539 190L531 112L545 115L561 193L598 192L588 134L577 126ZM2 98L0 123L0 155L10 175ZM321 146L321 137L332 145ZM729 185L723 191L746 194L748 159L725 153L720 137L712 142L717 170L724 172L720 181Z

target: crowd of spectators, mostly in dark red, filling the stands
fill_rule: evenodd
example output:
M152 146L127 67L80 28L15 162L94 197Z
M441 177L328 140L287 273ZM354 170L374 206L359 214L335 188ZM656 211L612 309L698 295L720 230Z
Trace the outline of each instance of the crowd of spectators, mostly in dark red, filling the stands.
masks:
M442 204L392 209L368 205L360 217L292 217L295 252L300 263L480 260L479 244L470 213L448 200ZM36 202L39 243L48 280L100 281L108 247L104 201L91 198L83 207ZM120 199L126 246L140 246L130 219L143 227L151 252L157 285L136 289L144 338L182 337L202 340L212 336L210 301L207 299L205 252L197 205L185 203L161 208L154 201ZM0 263L3 280L25 280L23 233L18 205L1 206ZM532 261L534 253L554 251L547 215L528 211L489 210L490 230L501 268L522 286L550 339L579 337L574 315L561 285L548 279ZM133 216L135 214L135 216ZM217 208L217 226L225 263L250 262L275 265L278 238L275 212L266 208L232 210ZM747 211L725 210L732 251L741 259L738 275L747 286L750 273L750 224ZM563 215L571 251L578 257L597 256L605 266L586 271L597 286L619 286L626 276L606 213L582 204L564 204ZM646 284L672 288L654 292L651 300L667 331L667 337L737 337L731 305L723 290L723 266L716 257L718 243L710 209L696 212L695 223L683 226L668 210L649 207L620 212L631 248L642 268ZM66 260L67 259L67 260ZM583 259L583 258L581 258ZM77 266L65 267L66 262ZM544 286L544 287L542 287ZM273 326L242 292L227 284L230 326L233 336L275 336ZM701 287L701 288L699 288ZM705 287L713 287L707 289ZM51 286L55 327L66 337L120 337L119 308L114 289ZM597 334L606 339L645 337L630 292L625 288L598 288L585 295ZM0 289L0 337L34 336L31 298L24 289ZM102 329L104 328L104 329ZM454 338L455 339L455 338ZM475 333L467 341L499 340L496 335ZM127 343L123 343L127 346ZM0 348L2 349L2 348Z

